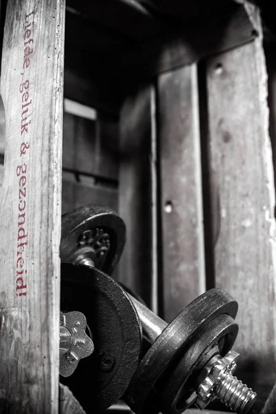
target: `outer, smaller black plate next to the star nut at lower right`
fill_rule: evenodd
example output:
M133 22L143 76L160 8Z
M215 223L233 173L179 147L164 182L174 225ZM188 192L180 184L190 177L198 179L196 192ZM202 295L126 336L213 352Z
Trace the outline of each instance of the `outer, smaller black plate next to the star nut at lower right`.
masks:
M206 354L209 354L210 359L210 349L216 348L219 342L222 342L219 354L224 357L232 348L238 329L234 319L226 314L219 315L204 326L204 331L193 339L193 344L188 346L171 375L166 375L160 393L162 413L181 414L193 404L193 391L196 377L200 373L201 359Z

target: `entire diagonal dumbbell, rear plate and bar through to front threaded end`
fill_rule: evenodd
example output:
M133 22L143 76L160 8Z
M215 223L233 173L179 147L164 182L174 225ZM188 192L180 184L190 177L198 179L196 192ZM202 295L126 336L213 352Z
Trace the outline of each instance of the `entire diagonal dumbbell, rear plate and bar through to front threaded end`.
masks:
M113 243L117 240L118 244L120 238L116 238L114 235L114 233L116 234L115 226L111 230L106 226L107 222L108 225L115 222L112 220L115 213L103 210L105 209L95 208L95 210L91 210L91 206L88 206L84 208L85 217L83 217L83 212L81 214L79 212L69 213L66 226L68 226L68 222L71 223L71 226L67 234L63 232L61 258L65 256L69 261L90 266L95 266L95 263L97 266L97 263L100 263L103 268L103 262L97 262L95 260L95 253L91 253L91 246L95 244L91 235L99 234L98 230L95 233L95 228L99 229L97 226L101 226L102 229L107 230L108 234L113 233ZM101 217L100 222L97 217L99 211L100 215L105 215L104 219ZM108 217L109 214L111 217ZM73 220L69 219L71 215L74 217ZM121 223L122 220L117 215L116 220L119 223L117 228L121 229L121 233L123 233L121 234L122 240L124 241L124 223ZM89 224L87 223L88 221ZM76 228L77 232L75 230ZM88 237L83 237L84 232L88 232ZM78 243L76 244L75 242L74 244L73 242L76 240L78 240ZM80 242L83 242L83 240L85 243L81 244ZM64 248L62 246L66 246L66 255L64 255ZM70 246L69 249L68 246ZM121 250L122 246L124 247L124 243L121 244ZM110 244L108 248L110 249ZM117 251L117 248L113 249L113 251ZM115 254L115 262L117 262L118 257ZM109 262L110 260L112 262L112 255L109 257ZM113 267L111 266L111 268ZM106 268L109 268L108 261L106 262ZM131 298L132 304L134 303L138 310L144 334L151 342L156 339L148 353L139 363L126 391L126 401L136 413L158 412L160 409L158 406L159 401L162 401L161 411L164 413L184 411L193 402L197 402L200 408L204 408L215 395L240 413L246 412L250 404L253 403L255 394L230 375L230 372L235 368L237 355L232 353L224 357L226 351L233 345L233 341L237 335L237 325L233 322L233 317L235 317L235 312L237 311L235 311L234 301L233 299L229 299L226 293L222 293L219 290L206 293L205 295L204 298L200 297L196 299L195 304L194 302L190 304L175 319L175 325L170 324L167 328L164 321L161 321L156 315L150 314L149 310L146 311L147 308L141 308L141 304ZM200 306L198 307L198 303L204 304L204 312L202 311L200 315ZM226 313L225 306L226 308L228 306L228 317L224 315ZM193 324L191 325L192 328L188 324L192 320L191 315L193 316L192 319L197 321L195 326ZM174 326L175 330L173 328ZM182 331L184 329L186 333L181 331L181 326ZM153 330L150 327L153 327ZM177 330L181 332L180 337ZM170 336L172 339L168 341ZM175 345L176 338L178 338L177 346ZM224 346L219 349L217 342L221 343L221 340L219 341L221 338L224 339ZM170 353L172 355L164 360L163 353L167 356ZM164 378L166 378L166 384L162 384ZM198 395L195 393L195 384L198 384ZM124 386L126 386L126 382ZM227 386L230 387L231 392L227 392L224 395ZM234 391L233 386L235 386ZM157 389L161 391L157 392Z

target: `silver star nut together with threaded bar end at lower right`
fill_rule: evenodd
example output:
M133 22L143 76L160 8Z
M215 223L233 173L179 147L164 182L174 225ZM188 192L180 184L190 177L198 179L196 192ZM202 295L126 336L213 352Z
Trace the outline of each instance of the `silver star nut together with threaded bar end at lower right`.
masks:
M256 393L233 376L237 357L238 353L229 351L225 357L216 356L208 362L208 375L197 388L195 404L198 408L203 410L215 398L219 398L237 414L245 414L253 405Z

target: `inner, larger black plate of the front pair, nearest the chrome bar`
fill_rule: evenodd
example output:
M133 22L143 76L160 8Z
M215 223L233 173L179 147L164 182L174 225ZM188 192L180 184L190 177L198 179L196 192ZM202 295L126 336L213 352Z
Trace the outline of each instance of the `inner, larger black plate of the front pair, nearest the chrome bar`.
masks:
M146 412L146 400L156 382L188 346L193 335L222 313L235 318L237 302L224 290L214 288L186 306L164 329L141 359L124 395L132 411L136 414Z

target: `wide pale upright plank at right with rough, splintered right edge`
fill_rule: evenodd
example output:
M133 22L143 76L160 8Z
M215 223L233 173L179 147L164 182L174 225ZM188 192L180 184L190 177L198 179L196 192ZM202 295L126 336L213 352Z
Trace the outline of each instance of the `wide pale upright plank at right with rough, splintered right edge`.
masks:
M262 37L209 59L207 84L216 286L239 303L239 377L257 392L258 411L276 371L275 189Z

